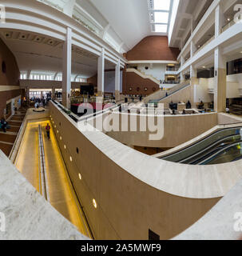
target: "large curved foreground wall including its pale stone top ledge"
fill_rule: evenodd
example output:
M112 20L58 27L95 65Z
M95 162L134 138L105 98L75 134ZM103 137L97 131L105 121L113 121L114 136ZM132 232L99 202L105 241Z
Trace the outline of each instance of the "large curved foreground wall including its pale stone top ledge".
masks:
M81 132L80 125L52 103L50 112L94 238L148 239L149 229L161 239L173 238L202 217L235 184L227 180L223 186L218 180L211 187L213 172L203 176L203 168L175 167L123 146L97 130ZM214 175L220 177L216 171ZM222 190L218 190L218 184Z

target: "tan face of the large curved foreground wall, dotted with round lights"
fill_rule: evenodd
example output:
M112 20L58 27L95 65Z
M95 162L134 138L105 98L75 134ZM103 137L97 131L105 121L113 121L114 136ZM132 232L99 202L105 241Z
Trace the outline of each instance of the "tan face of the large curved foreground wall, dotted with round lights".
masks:
M148 239L149 229L159 234L161 239L173 238L220 200L185 198L149 186L97 147L104 139L109 141L105 134L94 133L97 144L90 142L88 133L81 133L53 104L50 104L50 112L57 125L56 135L70 178L94 238L145 240ZM174 134L173 137L176 137ZM119 143L113 142L113 145L119 146ZM114 149L115 146L111 148ZM130 156L129 160L127 158L127 168L131 164L128 161L134 160ZM140 164L137 162L137 166ZM148 175L150 171L152 169L147 170ZM93 198L97 200L97 209L93 207Z

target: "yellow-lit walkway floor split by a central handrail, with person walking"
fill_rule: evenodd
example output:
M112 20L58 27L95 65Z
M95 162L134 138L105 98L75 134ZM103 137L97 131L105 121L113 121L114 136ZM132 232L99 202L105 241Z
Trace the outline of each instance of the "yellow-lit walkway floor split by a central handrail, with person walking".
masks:
M89 237L89 230L80 206L78 206L73 187L69 182L65 162L61 157L53 127L50 130L50 140L46 136L45 127L47 122L49 121L28 123L15 165L35 189L39 191L38 125L41 125L50 204L73 225L77 226L82 234Z

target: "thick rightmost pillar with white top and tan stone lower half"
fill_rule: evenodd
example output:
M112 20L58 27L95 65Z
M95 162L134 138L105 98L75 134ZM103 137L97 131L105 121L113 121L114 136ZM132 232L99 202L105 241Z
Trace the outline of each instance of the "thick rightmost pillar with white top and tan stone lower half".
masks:
M224 112L226 108L226 60L219 47L214 51L214 110Z

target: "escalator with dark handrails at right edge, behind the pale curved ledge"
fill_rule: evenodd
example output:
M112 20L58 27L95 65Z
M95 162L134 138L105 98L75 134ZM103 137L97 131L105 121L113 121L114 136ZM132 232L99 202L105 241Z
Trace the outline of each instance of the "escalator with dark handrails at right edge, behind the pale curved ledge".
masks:
M242 158L242 127L218 130L174 154L161 159L190 165L212 165L233 162Z

